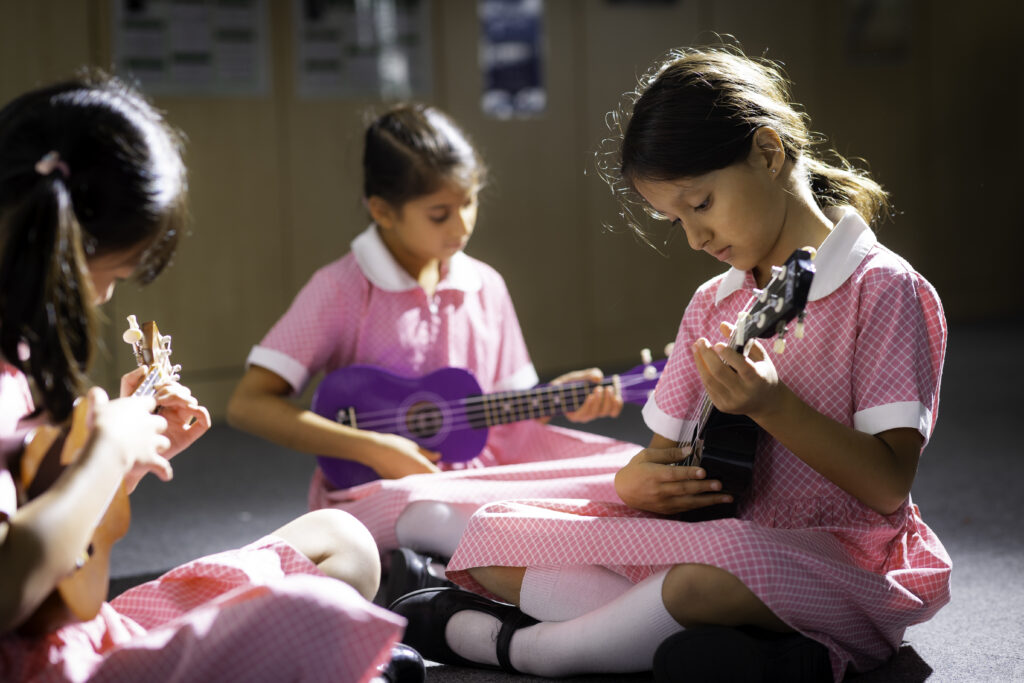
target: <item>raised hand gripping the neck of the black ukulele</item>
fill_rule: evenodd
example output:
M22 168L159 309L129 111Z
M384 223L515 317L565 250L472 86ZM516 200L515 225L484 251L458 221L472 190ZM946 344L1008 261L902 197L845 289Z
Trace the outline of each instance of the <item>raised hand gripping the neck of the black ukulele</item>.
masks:
M732 329L728 323L722 324L725 337L732 334ZM692 349L700 381L718 410L755 418L776 403L782 384L760 341L754 340L748 355L733 350L725 342L712 346L703 337Z

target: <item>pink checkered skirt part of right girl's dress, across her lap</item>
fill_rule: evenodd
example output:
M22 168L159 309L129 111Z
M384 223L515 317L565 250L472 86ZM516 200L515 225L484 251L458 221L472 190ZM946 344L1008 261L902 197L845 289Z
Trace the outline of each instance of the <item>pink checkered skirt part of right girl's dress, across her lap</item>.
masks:
M639 582L682 563L737 577L782 621L823 643L836 680L872 669L907 626L949 601L950 562L916 506L888 517L851 507L841 525L785 528L750 519L685 523L622 503L521 500L488 505L469 522L449 578L486 594L478 566L606 566Z

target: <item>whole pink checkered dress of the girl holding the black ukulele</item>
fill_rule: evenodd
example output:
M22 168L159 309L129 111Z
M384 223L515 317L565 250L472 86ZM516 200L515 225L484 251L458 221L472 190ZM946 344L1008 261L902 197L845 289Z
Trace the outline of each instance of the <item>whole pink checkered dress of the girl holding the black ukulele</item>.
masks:
M807 305L808 336L775 354L779 377L822 414L868 433L919 429L938 412L946 329L933 288L847 212L822 244ZM700 336L749 307L750 273L702 286L680 325L677 351L644 409L648 425L676 439L692 428L702 394L690 355ZM950 560L907 500L880 515L769 435L753 492L736 519L684 523L614 502L515 500L470 520L450 575L482 590L474 566L600 564L633 581L680 563L738 577L779 617L825 644L834 672L867 670L890 657L907 626L949 600Z

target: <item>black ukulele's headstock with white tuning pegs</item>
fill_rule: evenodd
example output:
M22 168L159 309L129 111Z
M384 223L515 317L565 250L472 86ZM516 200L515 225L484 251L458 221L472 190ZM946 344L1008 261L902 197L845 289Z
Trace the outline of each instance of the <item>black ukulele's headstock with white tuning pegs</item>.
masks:
M804 247L793 252L782 265L772 266L771 280L763 290L754 291L753 305L736 321L733 348L742 350L753 339L778 335L774 349L781 353L793 318L797 318L797 338L804 336L804 307L814 280L815 253L812 247Z

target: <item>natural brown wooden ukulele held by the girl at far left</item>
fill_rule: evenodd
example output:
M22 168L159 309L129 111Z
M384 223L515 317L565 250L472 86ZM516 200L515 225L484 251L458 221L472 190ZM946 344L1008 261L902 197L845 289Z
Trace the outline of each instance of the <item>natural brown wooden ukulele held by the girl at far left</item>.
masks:
M171 338L161 335L156 323L143 323L139 328L134 315L129 315L128 322L130 327L123 338L132 345L138 365L146 368L145 377L132 395L148 396L161 385L177 380L180 367L170 365ZM88 412L88 401L80 398L70 427L43 425L28 435L20 462L20 484L27 500L43 493L68 465L78 460L89 439ZM30 617L23 632L49 632L72 618L85 622L99 612L110 586L111 548L128 531L130 522L128 490L122 482L76 568L57 583L56 590Z

